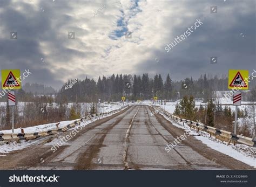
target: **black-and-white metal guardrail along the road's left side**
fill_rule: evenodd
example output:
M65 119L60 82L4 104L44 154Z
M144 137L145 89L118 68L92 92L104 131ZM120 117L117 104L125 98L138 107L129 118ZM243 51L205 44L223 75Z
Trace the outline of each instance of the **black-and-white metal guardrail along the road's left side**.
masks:
M35 132L35 133L12 133L12 134L4 134L4 133L0 133L0 142L3 141L18 141L18 140L33 140L36 139L38 137L44 137L44 136L49 136L49 135L53 135L53 134L58 134L58 133L62 133L74 126L76 126L76 124L79 124L80 122L84 122L84 120L91 120L92 117L99 117L100 116L107 116L108 114L113 114L113 113L117 113L122 111L123 109L125 109L128 106L124 106L121 107L119 109L116 110L112 110L111 112L106 112L106 113L98 113L98 114L92 114L92 115L87 115L85 117L82 117L79 120L76 120L75 122L72 122L68 125L66 125L63 128L58 128L58 125L60 124L59 122L56 123L56 129L51 129L48 131L41 131L41 132Z

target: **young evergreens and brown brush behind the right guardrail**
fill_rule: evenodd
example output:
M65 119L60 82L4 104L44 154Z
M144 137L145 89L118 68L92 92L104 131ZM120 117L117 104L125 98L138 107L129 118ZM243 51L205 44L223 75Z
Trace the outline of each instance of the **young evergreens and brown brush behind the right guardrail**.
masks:
M250 101L256 101L256 88L250 92ZM207 126L233 131L234 111L231 107L221 106L219 101L216 103L213 99L207 100L207 105L196 107L196 101L193 95L185 95L174 110L174 115L181 118L198 121ZM248 137L255 137L255 106L245 106L244 110L238 108L238 119L241 118L241 124L238 126L237 133Z

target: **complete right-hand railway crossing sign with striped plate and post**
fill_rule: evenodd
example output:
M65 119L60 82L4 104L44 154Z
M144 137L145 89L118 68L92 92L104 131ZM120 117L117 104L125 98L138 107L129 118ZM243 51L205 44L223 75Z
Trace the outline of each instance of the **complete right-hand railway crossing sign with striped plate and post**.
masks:
M241 105L242 89L248 89L248 70L229 70L228 71L228 89L232 89L233 94L233 106L235 106L235 121L234 121L234 134L237 134L237 110ZM235 92L235 91L237 92Z

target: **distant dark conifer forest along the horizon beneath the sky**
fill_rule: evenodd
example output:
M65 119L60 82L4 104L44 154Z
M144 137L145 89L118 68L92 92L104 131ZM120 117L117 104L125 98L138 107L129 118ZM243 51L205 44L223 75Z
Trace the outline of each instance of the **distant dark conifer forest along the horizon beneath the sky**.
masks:
M193 95L194 98L208 99L215 98L217 91L227 91L227 77L217 78L202 74L197 80L185 78L184 80L174 81L170 74L165 78L161 74L142 75L131 74L112 74L110 77L99 77L98 80L85 78L84 80L69 79L57 93L50 95L37 95L35 92L25 92L24 89L17 91L18 101L44 100L45 102L98 102L100 101L120 101L122 96L129 100L151 100L157 96L160 100L175 101L185 95ZM254 81L255 83L255 81ZM253 87L253 84L250 87ZM31 86L36 87L36 84ZM242 100L248 101L250 94L243 93ZM6 101L6 98L0 98Z

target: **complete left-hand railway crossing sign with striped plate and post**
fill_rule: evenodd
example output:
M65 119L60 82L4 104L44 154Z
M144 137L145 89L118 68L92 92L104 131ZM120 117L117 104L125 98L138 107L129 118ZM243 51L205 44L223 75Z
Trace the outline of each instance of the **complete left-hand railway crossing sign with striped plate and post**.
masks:
M12 119L11 128L14 133L14 110L16 105L15 89L21 89L21 71L20 70L2 70L2 88L8 89L7 104L11 108ZM12 90L12 91L10 91Z

